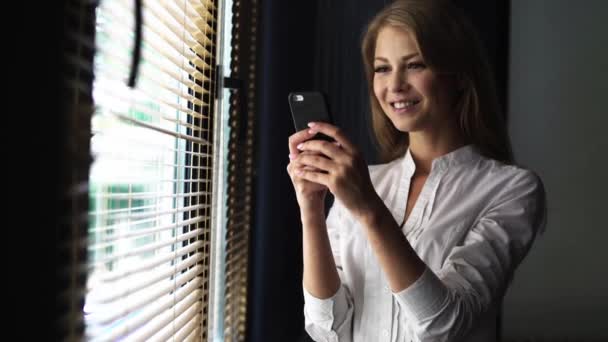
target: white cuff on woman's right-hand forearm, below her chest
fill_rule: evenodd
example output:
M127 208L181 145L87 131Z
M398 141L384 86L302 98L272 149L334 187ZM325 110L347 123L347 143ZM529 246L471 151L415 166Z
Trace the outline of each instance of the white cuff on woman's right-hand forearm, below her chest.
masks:
M422 322L435 316L445 305L449 290L429 269L405 290L394 293L408 319Z

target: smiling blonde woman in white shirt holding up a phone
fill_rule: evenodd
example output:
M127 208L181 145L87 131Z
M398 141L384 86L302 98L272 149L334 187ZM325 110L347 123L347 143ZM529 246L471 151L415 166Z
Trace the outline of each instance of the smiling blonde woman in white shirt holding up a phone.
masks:
M388 5L362 44L386 163L368 167L326 123L290 137L314 340L496 339L507 286L544 227L545 194L512 164L474 37L449 1ZM311 140L318 132L336 143Z

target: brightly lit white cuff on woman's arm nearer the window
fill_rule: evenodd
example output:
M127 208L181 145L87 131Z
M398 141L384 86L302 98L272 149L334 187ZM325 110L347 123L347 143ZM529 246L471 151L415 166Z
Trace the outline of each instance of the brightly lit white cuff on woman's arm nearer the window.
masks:
M334 330L341 323L336 321L335 318L344 316L348 311L344 286L340 285L338 291L326 299L319 299L311 295L305 288L303 290L306 318L312 323L321 325L326 330Z

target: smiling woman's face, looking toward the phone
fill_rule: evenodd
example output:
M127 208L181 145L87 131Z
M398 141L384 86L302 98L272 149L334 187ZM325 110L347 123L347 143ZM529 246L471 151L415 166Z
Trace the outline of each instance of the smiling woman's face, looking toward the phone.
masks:
M374 54L374 94L401 132L437 131L453 115L454 77L431 70L410 32L385 26Z

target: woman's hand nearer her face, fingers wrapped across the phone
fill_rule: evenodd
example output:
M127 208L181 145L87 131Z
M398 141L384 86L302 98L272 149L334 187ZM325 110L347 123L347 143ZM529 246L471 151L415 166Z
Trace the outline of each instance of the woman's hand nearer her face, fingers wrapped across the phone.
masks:
M371 214L380 198L357 148L336 126L316 122L310 123L309 127L308 134L320 132L332 137L336 143L308 140L296 144L303 153L295 161L308 167L298 168L296 177L328 188L356 218Z

